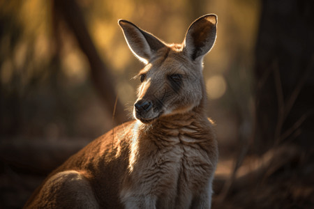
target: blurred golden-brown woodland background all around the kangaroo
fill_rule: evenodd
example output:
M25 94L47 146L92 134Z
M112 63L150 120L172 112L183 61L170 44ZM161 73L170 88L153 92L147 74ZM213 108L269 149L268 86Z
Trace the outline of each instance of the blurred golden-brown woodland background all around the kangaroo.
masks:
M313 1L0 0L0 208L22 208L47 173L132 120L143 65L117 20L182 42L207 13L213 208L313 207Z

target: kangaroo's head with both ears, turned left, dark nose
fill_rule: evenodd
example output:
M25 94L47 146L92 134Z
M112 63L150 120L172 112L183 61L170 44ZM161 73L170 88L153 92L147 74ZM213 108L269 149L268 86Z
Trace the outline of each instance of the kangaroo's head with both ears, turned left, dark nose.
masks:
M142 123L172 114L184 114L200 106L206 93L202 59L216 39L216 15L193 22L182 44L168 45L135 24L119 20L130 50L145 67L138 77L133 114Z

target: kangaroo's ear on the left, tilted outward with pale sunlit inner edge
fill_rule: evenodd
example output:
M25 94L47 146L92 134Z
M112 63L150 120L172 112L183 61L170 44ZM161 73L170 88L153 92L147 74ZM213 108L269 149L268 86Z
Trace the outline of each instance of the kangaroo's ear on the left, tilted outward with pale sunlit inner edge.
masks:
M143 63L147 64L158 49L165 47L165 44L158 38L151 33L139 29L132 22L119 20L118 23L124 31L128 47Z

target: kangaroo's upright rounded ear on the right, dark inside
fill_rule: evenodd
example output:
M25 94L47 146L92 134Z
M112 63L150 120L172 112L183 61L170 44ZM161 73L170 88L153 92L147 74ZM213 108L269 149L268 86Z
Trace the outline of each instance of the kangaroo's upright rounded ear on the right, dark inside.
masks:
M202 58L213 47L216 25L216 15L204 15L190 25L184 39L184 50L191 59Z

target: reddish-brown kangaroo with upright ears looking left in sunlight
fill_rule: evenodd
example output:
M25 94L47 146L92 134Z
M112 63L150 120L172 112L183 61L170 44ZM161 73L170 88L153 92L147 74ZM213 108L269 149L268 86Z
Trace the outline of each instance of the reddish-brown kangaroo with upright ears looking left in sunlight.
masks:
M128 47L145 64L135 120L70 157L24 208L211 208L218 147L204 109L202 60L216 24L216 15L204 15L183 43L166 44L119 20Z

